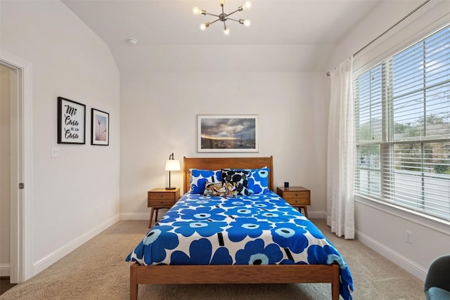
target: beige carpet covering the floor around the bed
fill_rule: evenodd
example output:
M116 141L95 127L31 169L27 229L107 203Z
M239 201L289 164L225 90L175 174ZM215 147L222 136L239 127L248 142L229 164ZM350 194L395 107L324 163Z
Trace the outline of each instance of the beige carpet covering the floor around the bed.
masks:
M330 233L312 220L345 257L354 279L354 299L425 299L423 282L356 240ZM0 299L129 299L129 263L124 261L147 231L147 221L120 221ZM330 299L330 285L143 285L139 299Z

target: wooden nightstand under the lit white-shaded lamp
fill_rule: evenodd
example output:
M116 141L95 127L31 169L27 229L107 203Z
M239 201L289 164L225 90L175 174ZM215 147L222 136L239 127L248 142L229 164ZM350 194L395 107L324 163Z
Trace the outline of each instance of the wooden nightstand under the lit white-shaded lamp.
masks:
M148 228L152 225L153 212L156 211L155 223L158 219L159 209L169 209L176 201L180 199L180 188L174 190L166 190L165 188L153 188L147 193L147 207L150 209L150 219L148 220Z

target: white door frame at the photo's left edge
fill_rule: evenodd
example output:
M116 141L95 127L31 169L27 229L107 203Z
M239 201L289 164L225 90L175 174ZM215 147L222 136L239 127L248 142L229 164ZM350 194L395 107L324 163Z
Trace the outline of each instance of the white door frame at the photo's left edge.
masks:
M11 103L11 283L32 268L32 64L0 49L0 63L18 72L18 101ZM14 113L13 113L14 112ZM19 189L19 183L25 188Z

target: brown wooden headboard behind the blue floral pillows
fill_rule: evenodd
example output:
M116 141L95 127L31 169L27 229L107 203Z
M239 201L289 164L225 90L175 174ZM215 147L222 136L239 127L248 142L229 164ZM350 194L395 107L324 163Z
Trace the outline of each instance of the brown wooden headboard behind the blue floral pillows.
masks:
M183 190L186 193L191 188L189 169L259 169L269 167L269 189L274 190L273 157L184 157Z

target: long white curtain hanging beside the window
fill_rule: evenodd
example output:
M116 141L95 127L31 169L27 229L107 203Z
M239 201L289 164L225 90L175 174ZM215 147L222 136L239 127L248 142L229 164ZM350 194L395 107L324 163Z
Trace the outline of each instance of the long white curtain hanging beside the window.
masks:
M328 116L327 224L331 231L354 239L354 100L353 58L330 71Z

